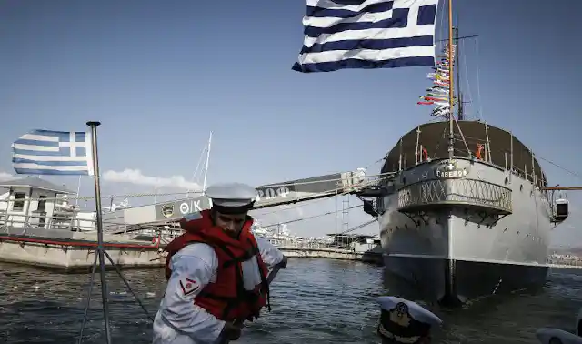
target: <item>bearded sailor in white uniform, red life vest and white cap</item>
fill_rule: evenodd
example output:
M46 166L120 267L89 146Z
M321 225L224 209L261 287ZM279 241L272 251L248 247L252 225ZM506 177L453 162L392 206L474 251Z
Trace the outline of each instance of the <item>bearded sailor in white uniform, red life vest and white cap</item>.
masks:
M185 233L166 251L166 294L154 321L154 344L236 340L243 321L268 305L267 269L286 257L250 231L257 192L229 183L206 189L212 207L180 220ZM270 309L270 307L269 307Z

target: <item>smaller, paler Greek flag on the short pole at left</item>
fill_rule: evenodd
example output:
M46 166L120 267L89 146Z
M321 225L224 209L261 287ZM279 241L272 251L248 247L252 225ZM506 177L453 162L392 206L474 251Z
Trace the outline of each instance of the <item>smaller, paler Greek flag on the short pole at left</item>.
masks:
M23 175L93 176L90 132L33 130L12 144L12 165Z

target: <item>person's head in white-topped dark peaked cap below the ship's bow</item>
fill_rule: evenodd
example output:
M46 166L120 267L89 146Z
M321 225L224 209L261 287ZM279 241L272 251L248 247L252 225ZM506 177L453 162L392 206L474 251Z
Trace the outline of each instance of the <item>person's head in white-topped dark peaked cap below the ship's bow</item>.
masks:
M442 320L416 302L404 298L377 298L382 313L377 333L383 344L430 343L430 328Z

